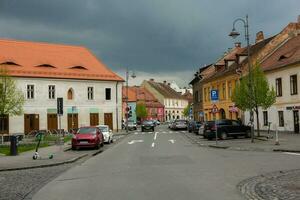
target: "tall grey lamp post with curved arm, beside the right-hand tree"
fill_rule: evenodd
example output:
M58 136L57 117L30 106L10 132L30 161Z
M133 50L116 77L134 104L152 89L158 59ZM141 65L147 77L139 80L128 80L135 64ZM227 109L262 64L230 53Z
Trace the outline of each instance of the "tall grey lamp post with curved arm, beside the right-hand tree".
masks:
M249 87L249 107L250 107L250 123L251 123L251 142L254 142L254 129L253 129L253 110L252 110L252 73L251 73L251 59L250 59L250 38L249 38L249 23L248 23L248 15L246 15L245 19L238 18L233 21L232 31L230 32L229 36L235 39L237 36L240 35L238 31L235 29L236 22L242 22L245 28L245 40L247 42L247 60L248 60L248 87Z

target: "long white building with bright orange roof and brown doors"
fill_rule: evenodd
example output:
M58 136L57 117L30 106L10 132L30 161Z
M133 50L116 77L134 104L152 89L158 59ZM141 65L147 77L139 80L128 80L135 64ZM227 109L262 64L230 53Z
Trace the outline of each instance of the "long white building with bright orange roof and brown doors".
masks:
M121 128L123 79L88 49L0 40L0 67L8 70L26 99L23 115L0 120L1 134L59 129L58 97L64 104L62 129L97 124Z

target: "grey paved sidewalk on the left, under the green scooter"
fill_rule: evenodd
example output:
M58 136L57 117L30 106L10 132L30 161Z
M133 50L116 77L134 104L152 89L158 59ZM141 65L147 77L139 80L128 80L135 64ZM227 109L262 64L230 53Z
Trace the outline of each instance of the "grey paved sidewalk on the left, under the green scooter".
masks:
M67 151L70 145L53 145L39 149L40 159L33 160L35 151L27 151L18 156L0 156L0 171L11 171L20 169L29 169L36 167L47 167L75 162L76 160L87 156L84 151ZM49 159L49 155L53 155Z

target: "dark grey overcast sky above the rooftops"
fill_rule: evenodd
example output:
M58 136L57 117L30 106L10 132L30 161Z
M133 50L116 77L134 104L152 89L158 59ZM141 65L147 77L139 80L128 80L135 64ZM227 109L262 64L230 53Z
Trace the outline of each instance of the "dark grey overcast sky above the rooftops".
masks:
M300 1L0 0L0 37L83 45L120 76L136 71L131 83L184 86L233 46L232 22L246 14L253 42L260 30L268 37L295 22Z

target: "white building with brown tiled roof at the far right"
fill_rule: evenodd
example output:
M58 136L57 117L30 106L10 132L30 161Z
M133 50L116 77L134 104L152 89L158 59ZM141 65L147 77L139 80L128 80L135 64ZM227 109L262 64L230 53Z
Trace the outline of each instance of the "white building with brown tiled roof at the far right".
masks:
M280 46L262 61L270 86L276 91L276 102L269 109L259 109L260 128L300 133L300 35L290 34ZM247 121L249 121L249 114ZM256 128L256 118L255 118Z

